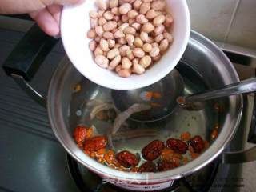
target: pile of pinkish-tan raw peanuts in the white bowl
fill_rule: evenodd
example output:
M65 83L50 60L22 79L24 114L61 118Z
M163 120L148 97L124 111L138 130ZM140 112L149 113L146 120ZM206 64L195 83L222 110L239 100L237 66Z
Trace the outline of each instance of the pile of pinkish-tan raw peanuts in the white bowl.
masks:
M173 18L166 0L96 0L87 33L94 61L122 78L143 74L168 50Z

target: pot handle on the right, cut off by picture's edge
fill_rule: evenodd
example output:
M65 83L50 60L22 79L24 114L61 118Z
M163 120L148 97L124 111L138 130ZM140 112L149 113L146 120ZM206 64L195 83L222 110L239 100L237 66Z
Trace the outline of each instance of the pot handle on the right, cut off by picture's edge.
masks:
M256 95L254 96L254 110L250 123L250 131L247 142L256 144ZM222 154L222 163L234 164L252 161L256 161L256 146L253 146L248 150L241 150Z

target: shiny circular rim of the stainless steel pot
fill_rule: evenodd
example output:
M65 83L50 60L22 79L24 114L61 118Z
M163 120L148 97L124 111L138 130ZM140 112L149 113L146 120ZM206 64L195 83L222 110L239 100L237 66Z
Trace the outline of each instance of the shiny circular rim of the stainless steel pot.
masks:
M215 46L213 42L210 42L210 40L202 36L202 34L198 34L197 32L194 32L194 31L191 31L190 33L190 41L192 42L198 41L199 44L203 42L204 46L206 46L207 48L210 47L210 50L214 52L214 54L217 54L220 60L224 62L228 62L228 64L230 64L230 67L231 67L230 74L233 75L232 78L234 78L236 81L239 81L238 74L234 69L233 64L226 57L226 55L219 50L218 46ZM66 65L66 67L69 67L69 65ZM57 98L60 97L60 93L53 94L52 93L53 91L51 90L54 90L54 87L61 86L64 83L64 81L60 81L60 80L62 80L61 77L66 76L65 73L66 74L68 73L68 71L66 70L66 67L65 66L58 67L57 70L55 70L53 78L50 81L50 86L49 86L48 95L47 95L47 98L48 98L47 110L48 110L48 116L50 119L50 125L54 131L56 138L58 138L58 141L61 142L65 150L74 159L76 159L76 161L81 163L83 166L86 166L88 169L94 171L94 173L102 175L102 177L111 178L111 179L115 179L122 182L150 184L150 183L166 182L166 181L170 181L171 179L178 179L188 174L192 174L195 171L200 170L202 167L212 162L214 158L217 158L218 155L222 153L222 151L225 149L225 146L234 137L234 133L238 129L238 125L242 118L242 107L243 107L242 95L240 94L236 96L230 96L229 97L230 110L232 111L233 115L235 115L235 117L231 117L230 115L227 115L227 118L229 121L231 121L232 119L235 121L233 123L234 126L231 127L230 125L227 125L227 123L225 123L226 126L222 127L222 131L218 135L218 138L214 141L212 145L210 145L209 149L207 149L204 153L200 154L198 158L187 163L186 165L179 166L174 170L168 170L168 171L163 171L159 173L142 173L142 174L139 173L138 174L138 173L127 173L120 170L114 170L108 166L102 165L101 163L95 161L94 159L84 154L83 151L80 150L78 146L76 146L74 139L70 136L70 133L68 132L67 129L64 129L65 133L63 133L63 130L61 131L60 129L58 129L59 126L66 127L65 120L62 117L62 113L59 113L59 111L62 111L62 109L57 110L58 107L56 107L56 101L58 101ZM56 80L58 80L58 82ZM53 107L53 104L54 104L54 107ZM225 130L225 133L224 133L224 130Z

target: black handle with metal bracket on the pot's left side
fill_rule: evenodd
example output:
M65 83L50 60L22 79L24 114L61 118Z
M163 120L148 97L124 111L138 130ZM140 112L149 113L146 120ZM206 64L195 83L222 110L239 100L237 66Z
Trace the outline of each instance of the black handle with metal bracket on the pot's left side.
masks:
M57 42L58 39L47 36L35 24L18 42L2 66L6 74L14 78L42 106L46 106L46 98L34 90L29 82Z

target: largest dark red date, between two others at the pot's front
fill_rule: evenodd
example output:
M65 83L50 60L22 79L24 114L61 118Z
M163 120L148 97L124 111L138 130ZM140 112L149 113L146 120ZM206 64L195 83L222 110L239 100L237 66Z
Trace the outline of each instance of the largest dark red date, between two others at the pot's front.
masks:
M161 155L164 148L164 142L154 140L142 149L142 157L148 161L153 161Z

